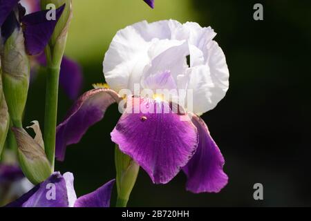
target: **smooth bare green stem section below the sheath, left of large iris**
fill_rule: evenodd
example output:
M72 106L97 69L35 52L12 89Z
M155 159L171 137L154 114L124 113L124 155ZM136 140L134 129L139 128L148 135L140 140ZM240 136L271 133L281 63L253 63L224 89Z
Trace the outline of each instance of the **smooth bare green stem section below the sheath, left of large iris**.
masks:
M46 77L46 113L44 117L44 146L46 157L51 164L52 172L55 164L55 140L57 125L57 102L60 68L48 68Z

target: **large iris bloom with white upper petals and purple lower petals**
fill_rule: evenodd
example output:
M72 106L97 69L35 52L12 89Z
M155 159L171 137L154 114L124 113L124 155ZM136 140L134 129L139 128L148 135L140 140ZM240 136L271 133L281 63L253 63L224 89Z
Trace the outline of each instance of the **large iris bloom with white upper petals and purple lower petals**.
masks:
M225 55L213 40L215 36L210 27L174 20L142 21L118 31L104 58L104 77L110 89L97 88L82 95L57 126L57 158L64 160L66 146L79 142L110 104L124 101L121 92L125 89L132 95L126 96L126 111L111 133L120 151L133 158L156 184L166 184L184 171L191 192L223 189L228 182L225 160L200 118L229 88ZM192 108L190 102L178 102L180 111L172 111L176 105L171 100L137 95L135 85L151 91L176 91L173 97L190 97ZM152 111L159 107L171 111ZM180 120L182 116L190 120Z

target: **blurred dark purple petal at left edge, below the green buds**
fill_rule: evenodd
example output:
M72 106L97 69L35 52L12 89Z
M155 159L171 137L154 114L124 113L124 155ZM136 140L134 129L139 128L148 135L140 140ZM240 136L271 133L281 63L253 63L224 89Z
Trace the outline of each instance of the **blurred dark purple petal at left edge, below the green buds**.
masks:
M23 177L19 166L0 164L0 185L21 180Z

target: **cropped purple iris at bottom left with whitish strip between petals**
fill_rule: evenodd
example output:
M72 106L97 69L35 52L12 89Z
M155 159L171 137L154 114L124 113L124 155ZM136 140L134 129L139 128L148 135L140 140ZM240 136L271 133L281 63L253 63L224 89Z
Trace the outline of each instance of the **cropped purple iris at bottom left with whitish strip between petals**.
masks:
M8 207L109 207L115 180L96 191L77 198L73 174L55 172L45 182L38 184Z

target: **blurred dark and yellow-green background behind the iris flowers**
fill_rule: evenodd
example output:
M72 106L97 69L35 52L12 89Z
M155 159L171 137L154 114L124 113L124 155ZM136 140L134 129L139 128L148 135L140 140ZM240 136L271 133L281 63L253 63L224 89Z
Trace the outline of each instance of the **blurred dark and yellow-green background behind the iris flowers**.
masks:
M254 21L262 3L264 20ZM104 81L102 61L117 30L132 23L176 19L211 26L230 70L225 99L203 118L225 160L229 184L218 194L185 190L180 173L166 185L154 185L140 170L129 206L311 206L311 1L74 0L66 55L84 70L83 91ZM45 75L33 82L25 124L44 122ZM59 122L73 104L61 91ZM68 147L56 169L75 174L77 195L115 177L110 133L120 114L111 106L102 122L79 144ZM264 200L253 198L263 184ZM111 204L115 204L116 189Z

